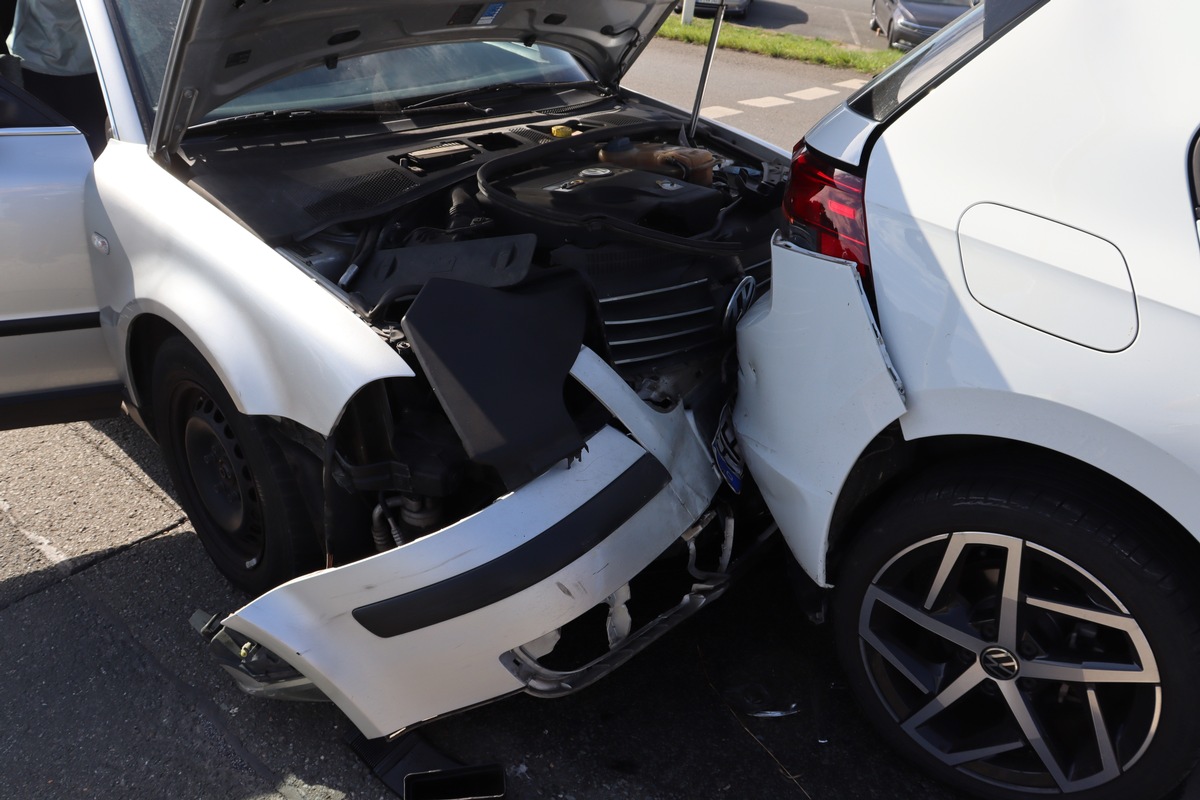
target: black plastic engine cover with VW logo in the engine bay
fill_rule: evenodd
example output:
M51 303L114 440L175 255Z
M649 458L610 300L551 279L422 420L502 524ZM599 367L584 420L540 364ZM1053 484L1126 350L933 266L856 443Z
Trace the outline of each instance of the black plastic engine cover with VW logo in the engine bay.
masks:
M530 209L604 215L683 235L712 228L725 203L712 187L613 164L534 169L497 185Z

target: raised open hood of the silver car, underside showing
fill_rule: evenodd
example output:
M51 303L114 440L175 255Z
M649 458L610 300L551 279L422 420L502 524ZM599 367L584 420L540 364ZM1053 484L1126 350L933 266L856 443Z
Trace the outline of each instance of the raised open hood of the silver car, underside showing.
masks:
M463 41L550 44L612 84L676 0L186 0L150 148L251 89L335 60Z

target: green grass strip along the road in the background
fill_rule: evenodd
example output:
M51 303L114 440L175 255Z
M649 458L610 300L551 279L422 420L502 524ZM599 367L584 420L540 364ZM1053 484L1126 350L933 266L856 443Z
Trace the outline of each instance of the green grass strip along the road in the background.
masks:
M679 17L672 14L659 29L658 35L677 42L708 44L708 37L712 32L712 19L697 17L690 25L684 25L679 22ZM730 23L721 25L721 36L716 41L716 46L730 50L769 55L773 59L791 59L806 64L857 70L871 76L882 72L884 67L904 55L899 50L862 50L823 38L779 34L745 25L731 25Z

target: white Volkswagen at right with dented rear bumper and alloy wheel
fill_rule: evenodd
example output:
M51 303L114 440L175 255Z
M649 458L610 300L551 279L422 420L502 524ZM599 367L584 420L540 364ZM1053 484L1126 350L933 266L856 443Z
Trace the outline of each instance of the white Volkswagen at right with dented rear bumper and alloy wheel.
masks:
M1200 5L988 0L797 146L734 427L884 738L986 798L1200 748Z

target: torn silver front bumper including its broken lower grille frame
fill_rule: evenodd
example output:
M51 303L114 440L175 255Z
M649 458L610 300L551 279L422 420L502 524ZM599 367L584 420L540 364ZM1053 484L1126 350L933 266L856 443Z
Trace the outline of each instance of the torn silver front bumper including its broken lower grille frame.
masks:
M306 699L314 687L368 738L388 735L522 690L580 688L720 594L760 531L712 507L720 477L692 415L647 404L587 347L569 373L608 415L578 451L210 625L239 684Z

